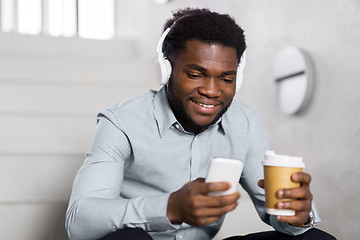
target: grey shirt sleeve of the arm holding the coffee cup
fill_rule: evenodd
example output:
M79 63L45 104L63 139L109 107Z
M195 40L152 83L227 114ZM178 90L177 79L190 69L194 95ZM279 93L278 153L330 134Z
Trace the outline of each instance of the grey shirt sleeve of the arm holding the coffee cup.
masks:
M288 235L302 234L312 227L295 227L285 222L279 222L276 216L266 213L265 191L260 188L257 183L260 179L264 178L262 161L265 151L270 149L269 141L267 134L256 115L248 121L249 148L240 184L248 192L256 211L263 222L272 226L275 230ZM320 218L314 204L312 204L312 211L314 216L314 226L316 226L320 222Z

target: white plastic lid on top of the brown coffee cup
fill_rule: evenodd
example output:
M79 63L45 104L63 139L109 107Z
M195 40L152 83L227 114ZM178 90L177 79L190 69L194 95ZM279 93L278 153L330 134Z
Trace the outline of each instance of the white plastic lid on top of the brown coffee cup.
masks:
M295 168L305 167L305 163L303 162L302 157L277 155L275 154L274 151L265 152L263 165L274 166L274 167L295 167Z

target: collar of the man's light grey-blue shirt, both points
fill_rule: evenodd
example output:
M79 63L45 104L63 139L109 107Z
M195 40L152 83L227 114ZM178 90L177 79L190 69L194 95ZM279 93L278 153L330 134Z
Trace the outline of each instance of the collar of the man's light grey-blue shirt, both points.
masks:
M176 117L173 111L170 108L169 102L166 96L166 87L163 86L160 90L155 94L153 99L153 107L154 107L154 117L157 123L158 131L160 137L163 137L166 132L174 125L177 124L181 127L181 124L176 120ZM226 114L226 113L225 113ZM216 121L212 126L218 125L218 130L225 134L225 128L223 126L223 117ZM210 126L210 127L212 127ZM183 130L185 131L185 130Z

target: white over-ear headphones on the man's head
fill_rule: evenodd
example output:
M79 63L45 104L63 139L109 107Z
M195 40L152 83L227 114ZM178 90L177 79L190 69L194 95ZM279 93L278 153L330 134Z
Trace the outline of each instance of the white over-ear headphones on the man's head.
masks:
M166 36L168 35L168 33L170 32L170 27L168 27L163 34L161 35L157 48L156 48L156 52L157 52L157 62L160 65L160 74L161 74L161 79L160 79L160 84L161 85L166 85L167 82L169 81L169 78L171 76L171 63L168 59L165 58L164 53L162 51L162 45L164 43L164 40L166 38ZM238 68L236 70L236 91L238 91L240 89L240 86L243 82L243 78L244 78L244 67L245 67L245 61L246 61L246 54L245 52L243 53L243 55L240 58L240 62L238 65Z

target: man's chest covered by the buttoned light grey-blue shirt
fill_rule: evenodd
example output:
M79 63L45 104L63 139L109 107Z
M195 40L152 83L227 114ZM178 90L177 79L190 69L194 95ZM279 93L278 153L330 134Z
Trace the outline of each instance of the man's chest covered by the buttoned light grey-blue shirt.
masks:
M244 161L247 151L244 139L216 128L198 135L171 128L161 137L156 129L148 129L128 138L132 154L125 164L125 180L136 180L149 188L156 186L155 191L160 192L172 192L205 177L212 157Z

